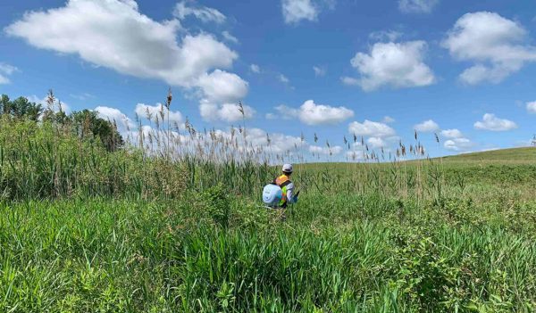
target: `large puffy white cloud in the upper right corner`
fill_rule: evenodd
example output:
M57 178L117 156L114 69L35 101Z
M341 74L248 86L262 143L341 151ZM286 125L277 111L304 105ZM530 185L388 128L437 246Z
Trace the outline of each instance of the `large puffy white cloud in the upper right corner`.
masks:
M527 31L495 12L467 13L456 21L441 45L458 61L474 62L460 79L466 84L497 84L536 61L536 47L529 45Z

